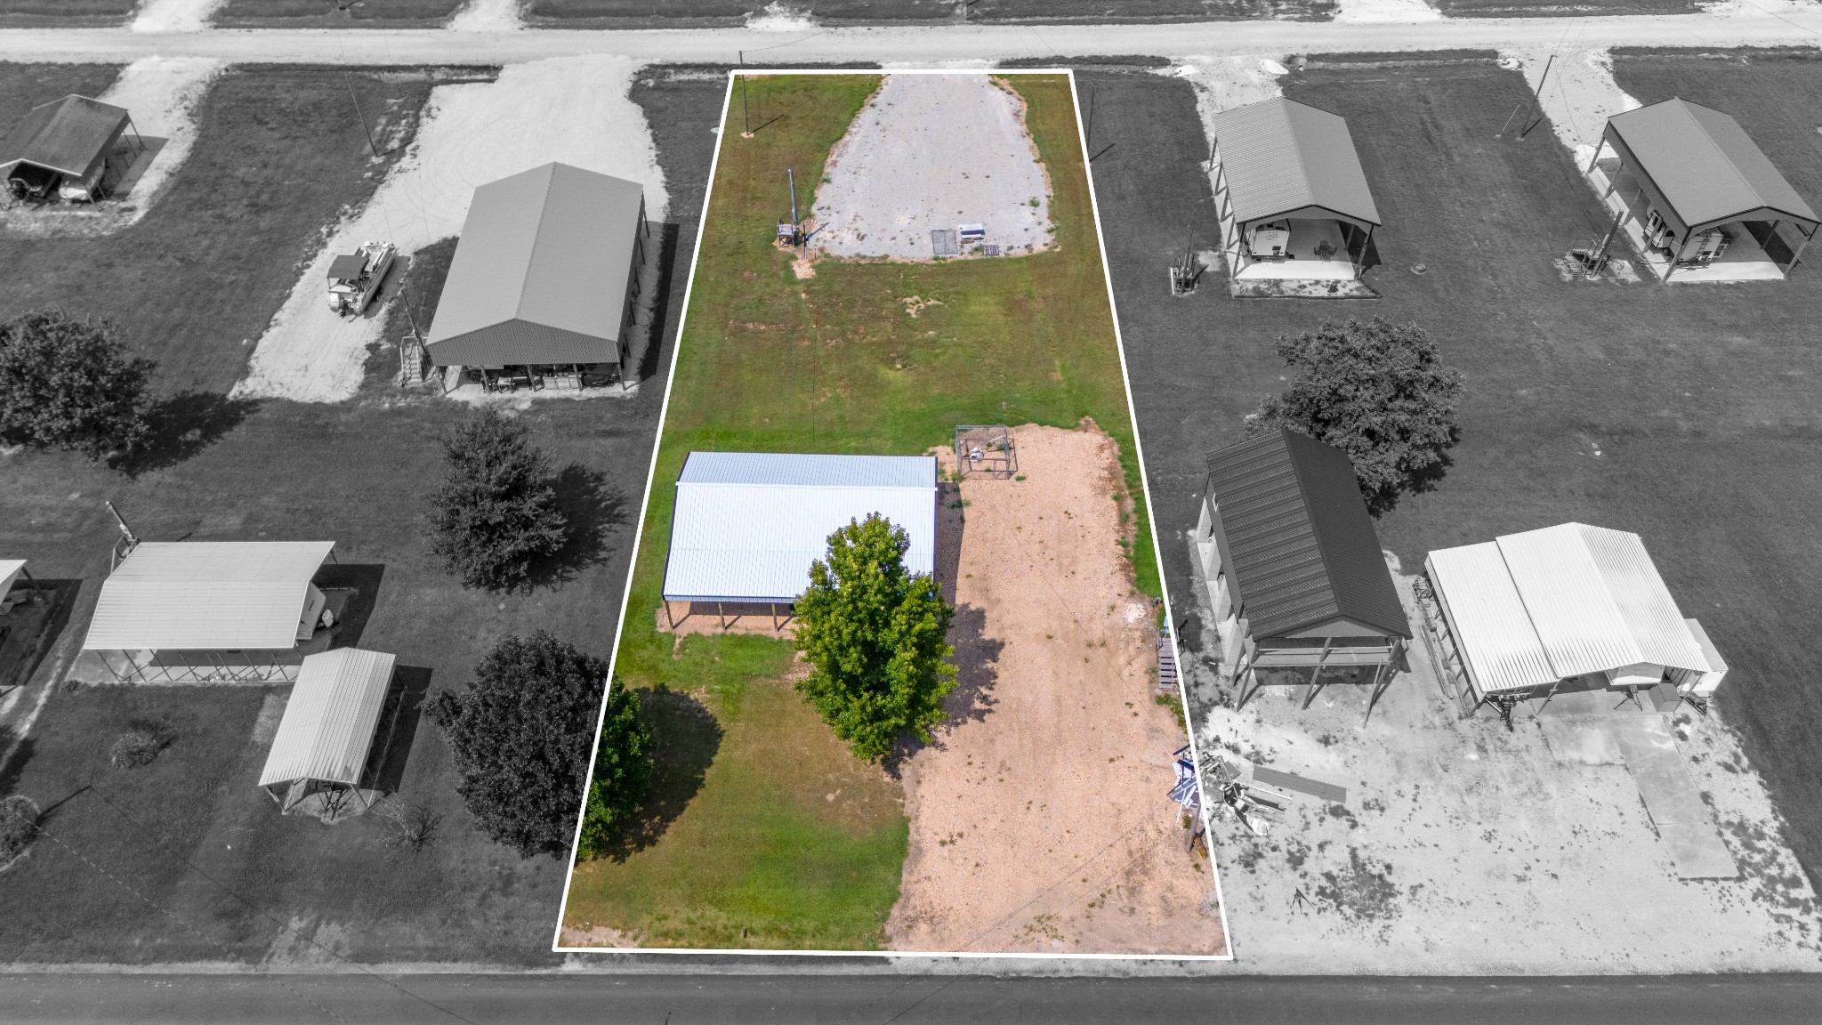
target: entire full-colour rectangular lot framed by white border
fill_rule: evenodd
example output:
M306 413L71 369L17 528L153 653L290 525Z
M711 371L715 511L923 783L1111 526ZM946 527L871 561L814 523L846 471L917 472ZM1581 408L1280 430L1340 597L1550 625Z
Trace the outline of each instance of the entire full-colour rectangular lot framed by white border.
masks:
M1070 77L738 75L559 947L1224 956L1161 622Z

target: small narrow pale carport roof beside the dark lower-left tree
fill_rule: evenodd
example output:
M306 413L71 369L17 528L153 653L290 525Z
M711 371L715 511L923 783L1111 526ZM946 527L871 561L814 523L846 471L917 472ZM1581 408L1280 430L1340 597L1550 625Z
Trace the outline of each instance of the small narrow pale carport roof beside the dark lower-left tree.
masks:
M395 655L359 647L306 657L259 784L299 779L359 784L395 660Z

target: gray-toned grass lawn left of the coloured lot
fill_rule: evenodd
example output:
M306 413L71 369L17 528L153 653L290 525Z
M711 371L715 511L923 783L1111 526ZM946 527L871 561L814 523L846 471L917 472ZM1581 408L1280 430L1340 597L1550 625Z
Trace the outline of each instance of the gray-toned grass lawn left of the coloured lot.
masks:
M352 73L368 117L415 115L428 98L423 75ZM80 82L106 88L111 77L106 67L0 66L0 104ZM0 244L5 308L44 303L115 317L129 345L160 361L155 390L168 399L168 438L135 476L67 452L0 454L0 553L29 558L40 578L82 582L66 642L80 640L107 573L118 534L102 500L113 500L148 540L335 540L339 562L363 567L374 593L359 644L395 653L430 691L461 689L508 633L545 627L607 655L603 609L619 607L663 388L523 412L563 469L579 538L537 589L459 587L426 554L417 514L441 474L439 434L466 407L386 387L341 405L224 398L246 363L242 339L257 337L284 301L321 230L370 195L384 170L368 162L346 73L230 71L204 97L200 124L171 192L129 232ZM386 801L441 812L441 841L401 857L377 815L324 826L277 813L255 786L261 700L237 688L53 693L0 793L49 806L100 779L135 824L109 819L97 792L56 812L53 832L75 850L38 844L27 865L0 874L0 961L286 963L313 958L302 936L363 961L554 963L567 866L521 859L474 828L434 724L401 735ZM179 740L148 770L102 771L98 759L129 713L171 720ZM138 823L169 843L144 843ZM175 921L160 923L104 870Z

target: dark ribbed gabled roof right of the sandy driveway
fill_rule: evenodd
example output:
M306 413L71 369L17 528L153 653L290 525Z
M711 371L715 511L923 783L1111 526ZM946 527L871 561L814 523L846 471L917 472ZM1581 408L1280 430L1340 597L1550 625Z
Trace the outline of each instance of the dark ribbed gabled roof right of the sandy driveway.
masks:
M1254 637L1359 624L1410 638L1354 465L1277 429L1208 454L1221 564Z

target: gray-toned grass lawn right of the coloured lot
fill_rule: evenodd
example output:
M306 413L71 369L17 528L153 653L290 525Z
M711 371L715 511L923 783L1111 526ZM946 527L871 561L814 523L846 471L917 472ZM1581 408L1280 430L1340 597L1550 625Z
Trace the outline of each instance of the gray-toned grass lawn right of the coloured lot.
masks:
M1596 237L1602 210L1549 126L1494 139L1529 102L1516 71L1490 57L1325 64L1285 93L1350 122L1385 219L1385 266L1368 274L1385 297L1206 305L1204 363L1144 374L1135 363L1148 450L1239 440L1241 418L1283 387L1279 334L1323 317L1418 321L1467 376L1463 436L1438 489L1381 522L1381 542L1412 573L1432 549L1571 520L1642 534L1684 615L1729 662L1716 709L1742 730L1798 857L1822 879L1811 651L1822 631L1822 270L1809 261L1762 285L1563 283L1551 259ZM1620 57L1616 75L1645 102L1680 93L1735 113L1796 190L1822 201L1822 62ZM1168 416L1153 416L1153 401ZM1206 427L1179 441L1192 423ZM1172 500L1172 529L1188 529L1193 509Z

